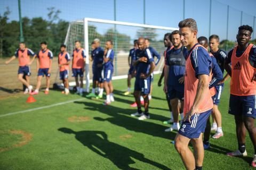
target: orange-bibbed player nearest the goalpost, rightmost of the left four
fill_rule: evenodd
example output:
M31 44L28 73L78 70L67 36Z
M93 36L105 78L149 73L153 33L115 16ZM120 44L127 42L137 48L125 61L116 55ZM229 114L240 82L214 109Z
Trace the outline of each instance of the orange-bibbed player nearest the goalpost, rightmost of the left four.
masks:
M76 81L76 93L83 96L83 77L84 77L84 66L86 61L85 50L81 47L80 41L75 41L75 49L73 50L72 60L72 77L75 77ZM80 78L80 84L78 81Z

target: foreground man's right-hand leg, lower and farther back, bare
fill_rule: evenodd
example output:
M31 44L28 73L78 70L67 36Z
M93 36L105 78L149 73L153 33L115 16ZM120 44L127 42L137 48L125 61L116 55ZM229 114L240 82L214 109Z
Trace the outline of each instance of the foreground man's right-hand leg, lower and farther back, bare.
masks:
M204 161L204 147L203 147L203 141L202 141L203 133L199 136L199 138L191 139L191 143L194 148L194 157L196 162L196 169L203 167L203 161Z

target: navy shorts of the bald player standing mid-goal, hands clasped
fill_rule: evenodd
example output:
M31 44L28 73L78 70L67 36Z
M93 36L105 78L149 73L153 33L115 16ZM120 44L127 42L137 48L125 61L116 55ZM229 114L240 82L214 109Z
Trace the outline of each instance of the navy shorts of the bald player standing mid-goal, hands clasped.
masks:
M142 95L148 95L150 92L151 77L147 79L136 78L134 83L134 91L141 91Z

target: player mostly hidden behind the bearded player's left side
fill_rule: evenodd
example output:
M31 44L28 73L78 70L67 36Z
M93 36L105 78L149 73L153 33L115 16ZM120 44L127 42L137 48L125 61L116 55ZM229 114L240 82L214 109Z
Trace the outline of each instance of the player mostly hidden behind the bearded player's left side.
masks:
M171 37L171 33L165 33L165 35L164 35L164 46L166 47L166 50L164 51L164 62L165 62L165 64L166 64L166 54L173 48L172 41L171 41L170 37ZM161 74L161 76L158 80L158 83L157 83L158 87L162 86L162 80L164 78L164 67L163 67L162 74ZM168 107L169 107L171 117L170 117L170 120L164 121L163 123L168 124L168 123L173 122L173 115L172 115L172 106L171 106L171 103L170 103L169 95L167 93L165 93L165 96L166 96L166 100L167 100L167 104L168 104Z

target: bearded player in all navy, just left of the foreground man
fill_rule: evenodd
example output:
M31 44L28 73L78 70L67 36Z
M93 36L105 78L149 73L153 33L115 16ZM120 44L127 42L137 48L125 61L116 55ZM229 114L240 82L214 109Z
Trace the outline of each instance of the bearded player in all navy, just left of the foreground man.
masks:
M186 56L188 53L187 48L183 47L181 44L178 30L171 33L170 39L174 48L166 53L166 63L164 66L164 92L169 95L174 122L172 127L166 129L165 132L179 130L179 114L181 115L181 120L183 119L183 113L180 113L179 100L181 102L181 107L183 107L184 75Z

